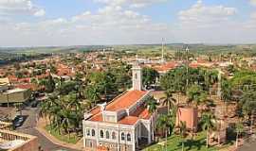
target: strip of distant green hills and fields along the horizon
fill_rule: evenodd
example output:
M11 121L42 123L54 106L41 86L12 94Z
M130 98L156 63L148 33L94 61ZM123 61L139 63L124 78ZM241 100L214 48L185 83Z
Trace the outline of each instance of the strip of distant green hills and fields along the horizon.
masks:
M241 53L249 51L256 53L256 44L185 44L185 43L167 43L166 51L184 50L186 47L196 53ZM86 51L98 51L106 48L114 48L115 51L161 51L161 44L130 44L130 45L76 45L76 46L52 46L52 47L0 47L0 53L8 54L51 54L51 53L78 53Z

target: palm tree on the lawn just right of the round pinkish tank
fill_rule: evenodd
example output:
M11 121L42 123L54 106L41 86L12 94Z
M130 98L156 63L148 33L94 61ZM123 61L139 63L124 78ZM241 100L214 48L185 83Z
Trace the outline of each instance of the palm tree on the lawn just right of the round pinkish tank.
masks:
M209 132L215 127L215 116L211 112L206 112L201 119L202 129L207 130L207 148L209 147Z

